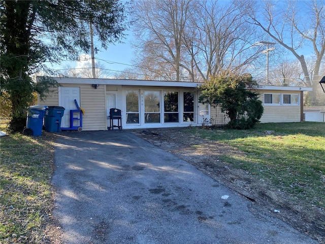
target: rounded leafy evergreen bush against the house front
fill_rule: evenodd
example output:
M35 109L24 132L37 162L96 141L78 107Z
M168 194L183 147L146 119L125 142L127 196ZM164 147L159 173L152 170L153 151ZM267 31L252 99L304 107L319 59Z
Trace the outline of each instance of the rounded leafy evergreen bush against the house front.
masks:
M258 123L264 110L262 101L254 92L256 87L257 83L250 74L223 73L211 77L199 87L199 102L219 106L230 118L228 128L250 129Z

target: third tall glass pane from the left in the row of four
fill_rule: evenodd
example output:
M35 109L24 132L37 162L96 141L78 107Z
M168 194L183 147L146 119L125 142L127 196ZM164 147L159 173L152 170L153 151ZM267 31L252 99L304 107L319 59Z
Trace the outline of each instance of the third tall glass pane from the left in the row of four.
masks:
M164 93L164 122L178 123L178 92Z

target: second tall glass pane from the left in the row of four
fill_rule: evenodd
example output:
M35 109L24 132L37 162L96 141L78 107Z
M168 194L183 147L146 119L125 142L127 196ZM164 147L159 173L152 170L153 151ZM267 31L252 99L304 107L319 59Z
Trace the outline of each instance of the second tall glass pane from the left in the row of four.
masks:
M160 123L160 92L144 92L145 123Z

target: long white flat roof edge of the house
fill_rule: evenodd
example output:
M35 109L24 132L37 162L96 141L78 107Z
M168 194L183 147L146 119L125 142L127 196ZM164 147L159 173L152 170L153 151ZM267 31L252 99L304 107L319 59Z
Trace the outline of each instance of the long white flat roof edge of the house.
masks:
M173 86L173 87L198 87L201 82L185 81L159 81L159 80L129 80L129 79L92 79L92 78L67 78L52 77L64 84L99 84L99 85L134 85L134 86ZM298 86L260 86L259 90L286 90L286 91L311 91L312 87Z

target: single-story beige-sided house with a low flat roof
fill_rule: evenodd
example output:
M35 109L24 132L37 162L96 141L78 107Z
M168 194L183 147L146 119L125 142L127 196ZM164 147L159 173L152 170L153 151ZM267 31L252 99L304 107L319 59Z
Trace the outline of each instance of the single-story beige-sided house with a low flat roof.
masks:
M111 108L121 110L123 129L202 126L225 124L228 117L198 102L195 89L201 83L154 80L91 79L53 77L53 88L39 105L64 107L61 129L70 127L74 100L85 110L82 129L108 130ZM262 123L303 121L303 92L311 87L262 86ZM76 121L78 123L78 121ZM114 123L117 123L116 121Z

